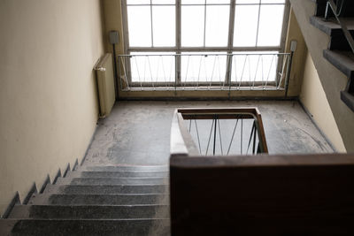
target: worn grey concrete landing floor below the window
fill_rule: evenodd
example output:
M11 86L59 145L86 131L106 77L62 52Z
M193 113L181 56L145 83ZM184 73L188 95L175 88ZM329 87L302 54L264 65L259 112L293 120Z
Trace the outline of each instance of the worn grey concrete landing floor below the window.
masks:
M269 154L333 152L297 102L119 102L108 118L99 121L84 165L168 164L176 108L237 106L258 107Z

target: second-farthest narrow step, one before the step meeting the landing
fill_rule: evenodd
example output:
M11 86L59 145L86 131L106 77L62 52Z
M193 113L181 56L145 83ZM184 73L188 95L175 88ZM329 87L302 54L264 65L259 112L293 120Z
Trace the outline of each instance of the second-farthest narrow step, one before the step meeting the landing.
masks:
M159 178L168 177L168 171L69 171L69 178Z

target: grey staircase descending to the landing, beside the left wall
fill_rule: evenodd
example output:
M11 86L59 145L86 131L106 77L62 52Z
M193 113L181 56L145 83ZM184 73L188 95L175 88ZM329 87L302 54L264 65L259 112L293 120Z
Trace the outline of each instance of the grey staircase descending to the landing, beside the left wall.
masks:
M169 235L166 166L80 166L0 220L0 235Z

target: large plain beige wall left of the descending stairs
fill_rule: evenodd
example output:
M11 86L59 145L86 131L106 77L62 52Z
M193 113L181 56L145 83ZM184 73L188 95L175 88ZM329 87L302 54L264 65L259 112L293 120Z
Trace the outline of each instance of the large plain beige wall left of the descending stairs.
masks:
M0 0L0 214L88 148L100 11L99 0Z

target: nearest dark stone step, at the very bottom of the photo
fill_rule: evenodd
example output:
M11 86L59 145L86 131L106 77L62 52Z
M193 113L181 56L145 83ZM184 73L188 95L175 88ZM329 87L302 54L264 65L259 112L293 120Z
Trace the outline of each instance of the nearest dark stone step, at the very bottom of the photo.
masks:
M9 233L11 232L11 233ZM0 235L170 235L169 219L3 219Z

